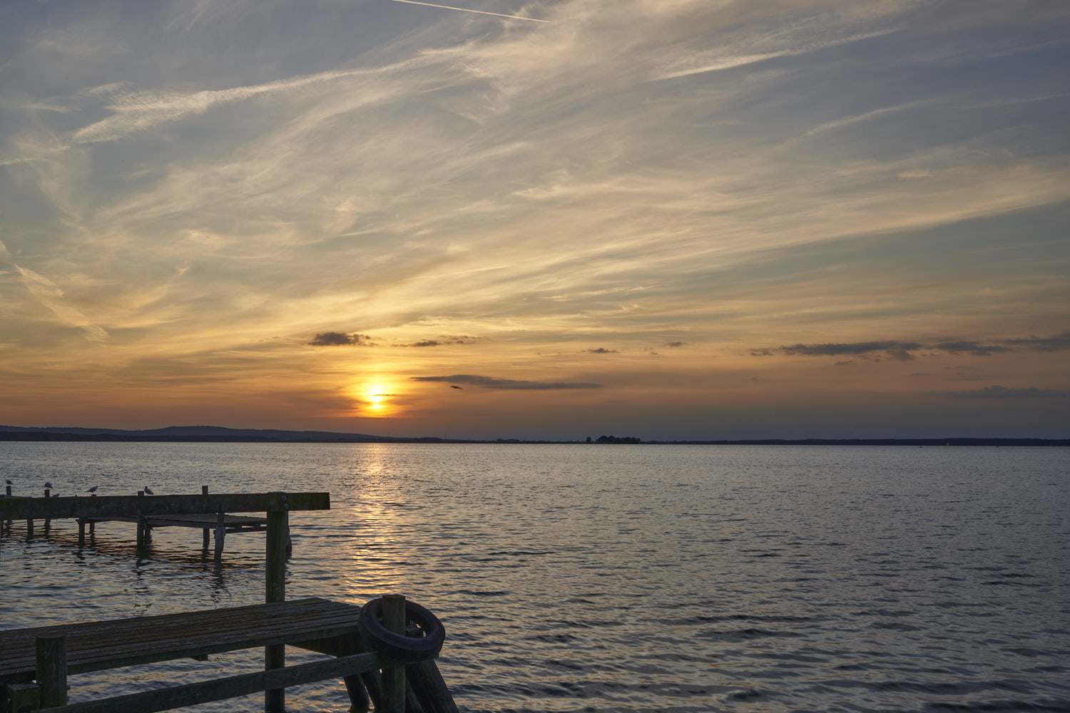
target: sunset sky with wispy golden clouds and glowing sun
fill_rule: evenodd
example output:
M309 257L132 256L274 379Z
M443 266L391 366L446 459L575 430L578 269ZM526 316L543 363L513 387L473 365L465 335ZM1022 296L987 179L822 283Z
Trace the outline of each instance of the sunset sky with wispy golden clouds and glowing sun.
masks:
M1070 437L1068 117L1053 0L5 0L0 423Z

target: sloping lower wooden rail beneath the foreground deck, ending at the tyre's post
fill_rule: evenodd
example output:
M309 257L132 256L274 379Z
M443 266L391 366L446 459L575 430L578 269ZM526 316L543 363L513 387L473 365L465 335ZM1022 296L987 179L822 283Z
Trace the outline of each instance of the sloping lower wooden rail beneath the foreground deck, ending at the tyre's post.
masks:
M157 713L186 706L209 703L214 700L235 698L260 693L269 688L315 683L326 679L343 678L382 668L391 662L379 653L357 653L328 661L317 661L270 671L232 676L214 681L190 683L182 686L147 691L117 696L87 703L43 709L40 713Z

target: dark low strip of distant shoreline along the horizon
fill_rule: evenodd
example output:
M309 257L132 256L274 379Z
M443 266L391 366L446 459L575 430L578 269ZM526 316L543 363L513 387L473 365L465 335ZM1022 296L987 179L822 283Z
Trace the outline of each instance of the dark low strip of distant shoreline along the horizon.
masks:
M363 433L275 431L221 427L169 427L148 431L86 428L0 425L0 441L104 443L261 443L261 444L556 444L577 446L1070 446L1070 438L751 438L728 440L631 440L628 444L586 440L435 438L374 436Z

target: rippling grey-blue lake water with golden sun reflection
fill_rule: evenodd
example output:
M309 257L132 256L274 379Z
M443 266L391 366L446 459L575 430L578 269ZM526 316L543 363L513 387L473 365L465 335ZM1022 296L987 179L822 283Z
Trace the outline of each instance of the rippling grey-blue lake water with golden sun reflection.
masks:
M434 611L469 712L1070 711L1070 451L0 443L15 493L327 491L287 596ZM262 534L0 539L0 629L263 600ZM2 634L0 634L2 641ZM312 654L288 650L288 662ZM72 701L262 667L72 677ZM340 681L290 711L343 713ZM199 711L258 711L262 696Z

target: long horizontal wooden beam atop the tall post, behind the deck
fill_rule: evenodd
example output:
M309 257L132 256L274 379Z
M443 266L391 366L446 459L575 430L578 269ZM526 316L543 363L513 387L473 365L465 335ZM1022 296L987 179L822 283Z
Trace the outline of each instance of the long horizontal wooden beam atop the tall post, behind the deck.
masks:
M102 495L100 497L0 498L0 520L138 517L207 512L330 510L330 493L220 493L214 495Z

